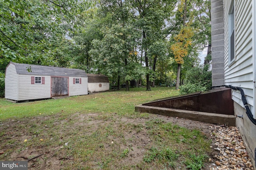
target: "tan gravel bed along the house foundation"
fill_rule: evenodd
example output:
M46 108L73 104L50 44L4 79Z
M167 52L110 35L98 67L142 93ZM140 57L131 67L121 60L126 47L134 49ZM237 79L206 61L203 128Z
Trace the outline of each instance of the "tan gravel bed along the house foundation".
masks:
M209 158L210 170L254 170L244 141L236 127L213 125L209 127L216 152Z

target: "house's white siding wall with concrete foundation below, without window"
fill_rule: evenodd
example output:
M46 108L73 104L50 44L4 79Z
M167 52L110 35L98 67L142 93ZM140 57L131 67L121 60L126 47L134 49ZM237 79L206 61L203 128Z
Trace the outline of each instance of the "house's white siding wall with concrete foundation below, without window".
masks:
M231 0L224 2L224 78L226 85L240 86L245 93L250 110L256 117L255 111L255 55L256 55L256 2L254 0L234 0L235 7L235 61L228 61L228 14ZM256 149L256 126L250 121L241 100L238 90L232 91L235 115L243 116L236 118L236 126L244 140L254 169Z

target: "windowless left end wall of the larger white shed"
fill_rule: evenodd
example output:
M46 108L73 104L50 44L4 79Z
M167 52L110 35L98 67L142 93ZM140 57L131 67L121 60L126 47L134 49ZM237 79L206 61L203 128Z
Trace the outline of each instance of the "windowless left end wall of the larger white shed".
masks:
M5 98L18 100L18 74L14 64L9 64L5 75Z

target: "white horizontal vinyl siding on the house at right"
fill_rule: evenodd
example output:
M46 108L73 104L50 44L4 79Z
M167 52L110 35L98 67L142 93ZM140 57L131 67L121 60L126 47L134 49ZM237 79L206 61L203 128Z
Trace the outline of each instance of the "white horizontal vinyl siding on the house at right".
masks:
M228 63L228 12L232 8L232 0L224 0L224 78L226 85L240 86L246 95L251 109L254 106L253 82L253 47L252 47L252 0L236 0L235 6L235 61ZM238 90L232 92L232 99L243 106ZM254 113L255 114L255 113Z

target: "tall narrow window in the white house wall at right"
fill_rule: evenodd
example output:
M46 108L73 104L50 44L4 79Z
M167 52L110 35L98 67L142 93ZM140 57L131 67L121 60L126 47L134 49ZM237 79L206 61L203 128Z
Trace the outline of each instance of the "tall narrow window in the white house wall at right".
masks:
M229 64L233 63L235 60L235 8L234 8L234 2L232 3L232 6L230 8L229 13Z

